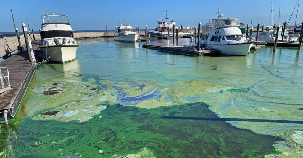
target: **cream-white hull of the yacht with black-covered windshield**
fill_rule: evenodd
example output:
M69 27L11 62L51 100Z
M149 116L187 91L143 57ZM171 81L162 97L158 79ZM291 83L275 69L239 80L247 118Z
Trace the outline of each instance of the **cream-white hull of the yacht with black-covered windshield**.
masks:
M77 57L77 48L79 45L59 45L59 46L41 46L44 56L48 61L55 63L65 63L75 60Z

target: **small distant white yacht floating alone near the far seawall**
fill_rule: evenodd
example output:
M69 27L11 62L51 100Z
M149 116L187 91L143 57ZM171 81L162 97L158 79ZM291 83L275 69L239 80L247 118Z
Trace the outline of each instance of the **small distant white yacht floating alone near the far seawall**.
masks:
M128 23L128 25L123 25L123 23ZM135 42L137 41L139 35L137 32L132 30L132 26L127 20L121 20L119 26L115 28L114 40L125 41L125 42Z

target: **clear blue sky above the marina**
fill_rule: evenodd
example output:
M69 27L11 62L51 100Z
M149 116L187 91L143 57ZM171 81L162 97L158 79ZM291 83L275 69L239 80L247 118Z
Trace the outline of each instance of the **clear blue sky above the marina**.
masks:
M248 3L250 2L250 3ZM273 0L274 16L273 21L277 23L279 7L281 7L281 19L289 19L297 0ZM300 11L303 1L299 6L298 22L303 20ZM69 22L73 30L105 30L105 20L107 28L114 29L119 21L132 20L132 26L144 28L155 28L156 21L163 18L166 8L168 8L169 20L183 26L197 26L198 22L206 24L208 19L216 18L217 9L221 8L220 14L224 18L241 18L240 22L256 26L258 21L269 25L271 0L164 0L164 1L135 1L135 0L51 0L51 1L21 1L21 0L0 0L0 32L14 31L12 16L8 9L13 10L16 27L21 28L25 17L28 17L30 28L35 31L41 27L41 15L48 12L58 11L58 14L65 14L69 17ZM248 6L248 7L245 7ZM295 14L288 25L294 25Z

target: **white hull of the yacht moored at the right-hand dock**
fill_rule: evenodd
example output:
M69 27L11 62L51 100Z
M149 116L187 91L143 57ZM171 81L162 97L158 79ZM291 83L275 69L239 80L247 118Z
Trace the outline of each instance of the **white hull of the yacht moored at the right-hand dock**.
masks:
M212 48L218 50L221 54L235 55L235 56L247 56L253 43L242 44L218 44L218 45L202 45L202 47Z

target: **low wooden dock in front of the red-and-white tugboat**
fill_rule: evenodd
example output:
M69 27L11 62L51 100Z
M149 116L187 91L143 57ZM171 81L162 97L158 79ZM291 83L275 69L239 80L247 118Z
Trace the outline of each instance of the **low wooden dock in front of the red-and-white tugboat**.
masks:
M169 47L166 47L166 44L147 44L145 45L146 48L153 49L153 50L161 50L166 51L170 53L176 53L176 54L182 54L187 56L203 56L203 55L215 55L218 54L219 51L217 50L201 50L196 51L193 50L192 47L187 46L174 46L169 45Z

